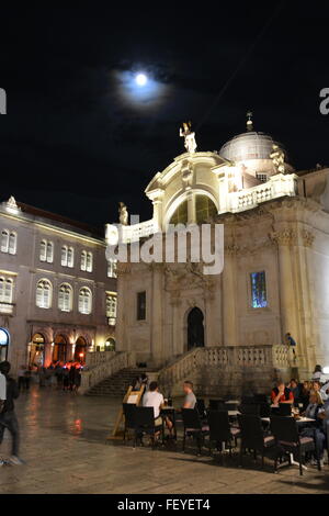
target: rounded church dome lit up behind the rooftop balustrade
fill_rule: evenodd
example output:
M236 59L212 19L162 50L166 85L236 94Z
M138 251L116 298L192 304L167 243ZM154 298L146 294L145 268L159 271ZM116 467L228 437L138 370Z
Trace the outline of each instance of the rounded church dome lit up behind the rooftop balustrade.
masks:
M238 134L223 145L219 156L235 162L250 159L270 159L273 145L277 145L284 150L283 145L275 142L272 136L265 133L248 131L247 133Z

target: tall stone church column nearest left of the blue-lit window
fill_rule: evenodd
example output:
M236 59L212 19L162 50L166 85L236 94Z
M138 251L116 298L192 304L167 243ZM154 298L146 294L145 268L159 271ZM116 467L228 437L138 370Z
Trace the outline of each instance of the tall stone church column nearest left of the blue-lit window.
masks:
M237 346L238 343L238 317L236 300L236 245L226 246L223 270L223 344L224 346Z

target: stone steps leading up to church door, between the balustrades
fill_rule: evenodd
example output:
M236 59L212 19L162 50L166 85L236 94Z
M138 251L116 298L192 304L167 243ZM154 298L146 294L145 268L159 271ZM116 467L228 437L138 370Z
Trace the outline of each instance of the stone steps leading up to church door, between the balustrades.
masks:
M112 377L105 378L97 385L93 385L87 393L87 396L112 396L112 397L123 397L127 392L128 386L132 384L133 380L146 373L150 377L150 373L156 373L150 369L137 369L137 368L125 368L121 369Z

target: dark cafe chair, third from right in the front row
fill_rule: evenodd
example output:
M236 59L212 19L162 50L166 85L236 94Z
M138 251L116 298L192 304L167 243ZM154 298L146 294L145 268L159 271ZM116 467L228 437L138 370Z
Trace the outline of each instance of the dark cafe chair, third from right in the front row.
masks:
M212 455L213 444L216 445L217 450L223 453L225 446L228 447L229 456L231 450L237 446L237 438L240 435L239 428L235 428L229 424L229 416L227 411L209 411L208 412L209 425L209 455ZM234 445L232 445L234 442Z

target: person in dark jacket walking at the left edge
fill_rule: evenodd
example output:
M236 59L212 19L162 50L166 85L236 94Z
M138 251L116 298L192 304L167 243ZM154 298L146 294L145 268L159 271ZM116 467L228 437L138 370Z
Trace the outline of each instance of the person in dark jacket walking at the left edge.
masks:
M9 462L13 465L20 465L23 463L23 461L19 458L20 429L14 406L14 400L16 400L20 395L19 385L16 381L9 375L9 362L1 362L0 371L7 380L7 400L0 414L0 445L3 440L4 429L8 428L12 437L12 455L9 459Z

